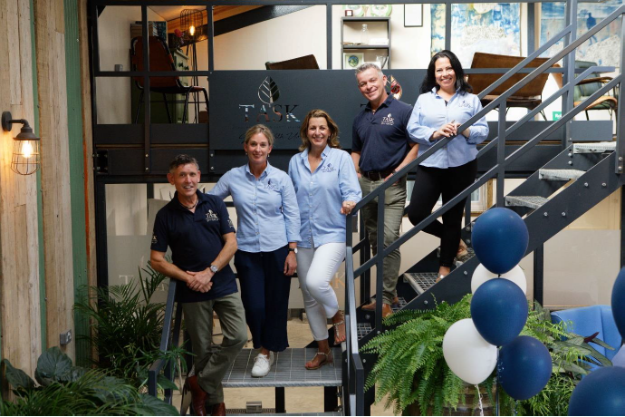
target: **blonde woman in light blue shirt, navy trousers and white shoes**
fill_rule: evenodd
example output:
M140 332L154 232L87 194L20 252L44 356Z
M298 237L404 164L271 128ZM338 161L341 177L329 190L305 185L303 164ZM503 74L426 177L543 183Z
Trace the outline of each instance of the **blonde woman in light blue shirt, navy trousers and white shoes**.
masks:
M274 352L289 346L286 320L291 276L297 267L300 214L293 183L271 166L274 134L263 124L245 132L247 163L229 170L208 194L231 195L236 208L236 274L241 285L245 320L254 348L259 349L252 376L263 377L274 364Z

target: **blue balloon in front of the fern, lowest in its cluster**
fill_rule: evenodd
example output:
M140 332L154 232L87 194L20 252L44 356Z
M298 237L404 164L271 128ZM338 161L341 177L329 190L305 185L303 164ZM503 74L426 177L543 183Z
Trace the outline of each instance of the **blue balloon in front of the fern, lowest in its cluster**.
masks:
M552 355L539 340L518 336L499 351L499 383L514 400L527 400L540 393L552 374Z

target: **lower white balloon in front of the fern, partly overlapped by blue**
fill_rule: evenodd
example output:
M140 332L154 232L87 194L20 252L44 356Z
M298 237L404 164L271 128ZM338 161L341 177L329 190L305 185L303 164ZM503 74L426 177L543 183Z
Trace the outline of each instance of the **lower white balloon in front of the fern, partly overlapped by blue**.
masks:
M459 320L447 329L443 338L447 365L466 383L483 383L497 364L497 347L477 332L473 320Z

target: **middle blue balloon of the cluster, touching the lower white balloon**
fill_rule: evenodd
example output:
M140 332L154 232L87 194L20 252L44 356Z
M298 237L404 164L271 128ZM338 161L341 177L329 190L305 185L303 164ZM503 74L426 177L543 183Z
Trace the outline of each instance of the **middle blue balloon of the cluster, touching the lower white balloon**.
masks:
M527 299L523 290L505 278L479 286L471 300L471 318L489 344L509 344L527 321Z

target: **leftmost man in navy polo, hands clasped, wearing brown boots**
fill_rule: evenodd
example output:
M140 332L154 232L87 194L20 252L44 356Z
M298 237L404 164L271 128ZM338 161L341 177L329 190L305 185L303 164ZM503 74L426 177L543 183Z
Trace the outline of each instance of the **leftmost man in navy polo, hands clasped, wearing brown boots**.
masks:
M226 415L221 384L228 367L247 341L245 311L228 262L236 252L235 228L221 199L197 190L197 160L178 155L169 164L168 181L176 194L154 221L150 261L160 273L182 281L182 303L191 336L196 374L187 378L196 415ZM165 260L171 248L173 263ZM213 310L224 335L213 346Z

